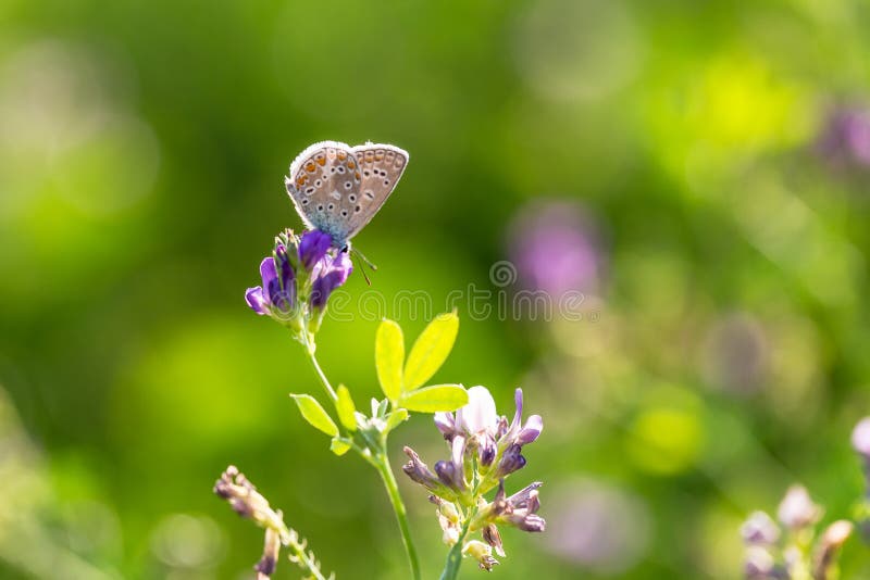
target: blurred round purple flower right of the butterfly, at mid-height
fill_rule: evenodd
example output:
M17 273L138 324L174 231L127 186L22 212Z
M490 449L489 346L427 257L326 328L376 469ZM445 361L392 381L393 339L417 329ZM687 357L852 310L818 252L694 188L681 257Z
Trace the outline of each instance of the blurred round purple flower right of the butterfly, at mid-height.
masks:
M577 204L532 203L514 217L508 239L524 289L557 298L599 292L604 259L595 228Z

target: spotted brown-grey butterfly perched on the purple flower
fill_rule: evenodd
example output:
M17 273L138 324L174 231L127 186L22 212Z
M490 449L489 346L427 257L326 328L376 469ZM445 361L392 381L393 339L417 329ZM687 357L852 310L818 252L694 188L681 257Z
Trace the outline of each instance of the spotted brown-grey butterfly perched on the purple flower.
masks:
M381 210L407 165L408 152L396 146L321 141L297 155L284 185L304 225L349 251L350 238Z

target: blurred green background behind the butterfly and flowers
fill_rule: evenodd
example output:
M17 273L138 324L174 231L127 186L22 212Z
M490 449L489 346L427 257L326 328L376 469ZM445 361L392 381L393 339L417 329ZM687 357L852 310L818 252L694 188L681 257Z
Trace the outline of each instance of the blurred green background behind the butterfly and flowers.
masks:
M287 393L315 378L243 299L299 226L289 162L323 139L411 153L356 239L384 297L585 295L572 320L460 305L436 377L506 414L522 386L544 415L510 483L546 482L549 528L506 531L494 577L737 578L739 522L790 483L848 514L868 29L845 0L4 0L0 577L250 578L262 534L211 493L231 463L339 579L407 577L374 471L301 421ZM525 252L550 229L567 245ZM515 285L490 281L502 260ZM319 339L358 406L375 328ZM394 433L396 468L402 444L446 455L425 416ZM433 506L401 483L435 578ZM870 576L857 541L845 571Z

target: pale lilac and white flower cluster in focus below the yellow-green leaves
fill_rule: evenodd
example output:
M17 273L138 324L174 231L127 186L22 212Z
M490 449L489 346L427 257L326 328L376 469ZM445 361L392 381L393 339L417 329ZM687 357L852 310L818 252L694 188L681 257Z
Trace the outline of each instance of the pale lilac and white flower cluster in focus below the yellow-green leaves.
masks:
M430 501L438 506L445 543L459 542L464 526L470 532L481 532L485 543L469 540L462 551L489 570L498 564L492 551L505 555L497 525L529 532L542 532L546 527L537 515L539 481L510 496L505 492L505 479L525 466L523 446L540 436L544 419L532 415L522 420L522 389L515 391L517 411L510 423L496 413L493 395L485 387L472 387L468 394L469 403L455 414L435 414L435 425L450 447L450 458L437 462L433 471L412 449L405 447L410 461L402 470L432 492ZM495 487L495 497L486 501L484 494Z

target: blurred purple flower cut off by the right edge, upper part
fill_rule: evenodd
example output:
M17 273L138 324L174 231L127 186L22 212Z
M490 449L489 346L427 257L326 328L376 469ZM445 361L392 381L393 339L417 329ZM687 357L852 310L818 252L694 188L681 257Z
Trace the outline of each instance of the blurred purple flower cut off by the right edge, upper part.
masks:
M870 111L835 109L825 122L818 149L833 163L870 166Z

